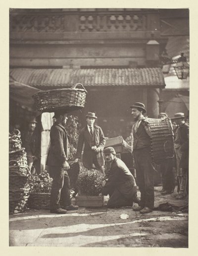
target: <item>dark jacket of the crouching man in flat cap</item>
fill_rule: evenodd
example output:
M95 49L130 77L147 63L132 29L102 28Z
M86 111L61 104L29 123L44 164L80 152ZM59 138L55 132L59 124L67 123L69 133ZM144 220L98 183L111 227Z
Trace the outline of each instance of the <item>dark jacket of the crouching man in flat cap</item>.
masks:
M108 174L106 174L105 179L108 180L105 186L102 188L103 195L106 195L109 192L117 189L126 197L126 199L131 199L137 192L137 186L133 175L125 163L117 157L114 158L111 164L111 168Z

